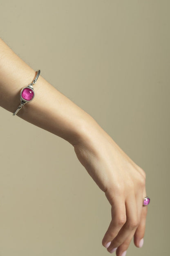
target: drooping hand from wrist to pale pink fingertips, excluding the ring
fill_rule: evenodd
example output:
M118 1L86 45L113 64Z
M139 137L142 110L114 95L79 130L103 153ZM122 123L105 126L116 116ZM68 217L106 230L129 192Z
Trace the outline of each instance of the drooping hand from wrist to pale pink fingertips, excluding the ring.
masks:
M143 245L147 206L143 207L145 172L96 123L84 129L74 150L81 164L111 204L112 220L102 240L117 256L125 256L132 238Z

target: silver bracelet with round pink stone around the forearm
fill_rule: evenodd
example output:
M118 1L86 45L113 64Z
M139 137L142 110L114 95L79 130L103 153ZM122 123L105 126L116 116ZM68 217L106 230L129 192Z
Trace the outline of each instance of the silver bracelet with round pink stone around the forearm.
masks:
M40 75L40 70L37 71L36 76L35 76L34 80L32 81L32 83L30 83L28 86L21 89L21 91L20 91L20 101L21 101L21 103L18 106L16 112L13 113L13 115L16 115L18 113L18 111L20 111L22 106L24 106L25 103L34 99L35 92L34 92L33 85L36 83L39 75Z

